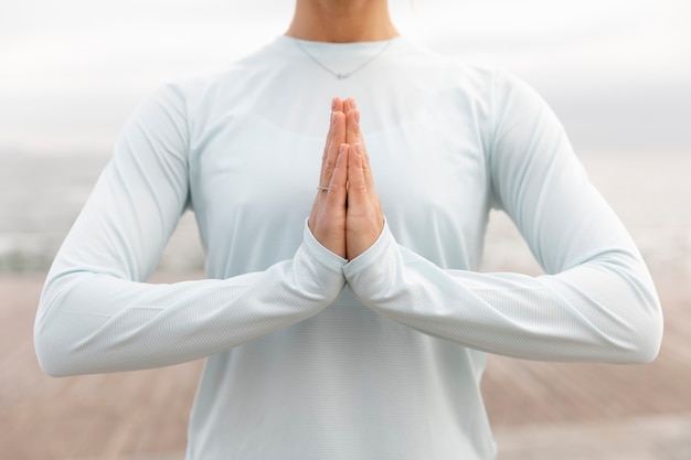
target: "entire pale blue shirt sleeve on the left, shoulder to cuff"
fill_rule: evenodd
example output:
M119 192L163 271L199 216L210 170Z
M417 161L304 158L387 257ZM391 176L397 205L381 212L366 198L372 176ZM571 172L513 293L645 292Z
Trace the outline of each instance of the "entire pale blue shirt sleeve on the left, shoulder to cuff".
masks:
M188 204L183 90L167 86L128 121L47 275L34 324L54 376L131 371L226 351L317 314L346 260L305 225L293 259L223 280L145 282Z

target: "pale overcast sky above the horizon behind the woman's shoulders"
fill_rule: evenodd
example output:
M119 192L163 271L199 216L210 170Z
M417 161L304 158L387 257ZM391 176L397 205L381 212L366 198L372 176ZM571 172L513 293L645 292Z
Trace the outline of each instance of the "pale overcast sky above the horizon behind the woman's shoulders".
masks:
M0 0L0 156L108 154L171 79L281 34L289 0ZM391 0L402 33L534 86L577 151L691 154L691 1Z

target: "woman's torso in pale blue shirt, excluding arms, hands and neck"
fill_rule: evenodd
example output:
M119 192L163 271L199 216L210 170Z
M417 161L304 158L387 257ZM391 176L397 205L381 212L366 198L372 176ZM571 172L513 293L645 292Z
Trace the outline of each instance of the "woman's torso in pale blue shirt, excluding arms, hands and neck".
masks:
M382 43L305 43L336 71ZM339 68L342 67L342 68ZM212 278L264 270L300 245L333 96L354 97L397 243L444 268L477 269L491 183L489 72L405 39L337 79L279 38L188 93L191 205ZM486 459L481 353L360 304L208 359L188 457Z

